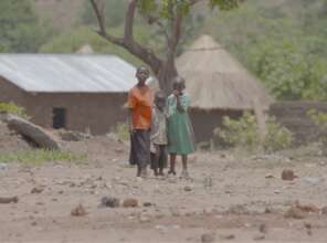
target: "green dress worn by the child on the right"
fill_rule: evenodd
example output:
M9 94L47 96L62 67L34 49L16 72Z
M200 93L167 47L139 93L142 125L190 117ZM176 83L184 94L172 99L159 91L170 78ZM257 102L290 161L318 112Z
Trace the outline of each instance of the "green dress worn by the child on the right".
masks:
M170 95L168 106L168 151L169 154L189 155L194 149L194 133L188 115L190 97L187 94L180 96L181 106L186 112L177 109L177 98Z

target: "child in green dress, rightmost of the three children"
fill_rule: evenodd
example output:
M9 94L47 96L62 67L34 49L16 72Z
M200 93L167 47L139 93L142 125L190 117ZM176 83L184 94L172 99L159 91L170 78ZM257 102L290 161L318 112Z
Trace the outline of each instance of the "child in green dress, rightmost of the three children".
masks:
M184 94L186 83L177 77L172 84L172 94L168 97L168 151L170 154L169 175L176 175L176 157L182 158L181 177L188 178L188 155L194 149L194 133L188 115L189 95Z

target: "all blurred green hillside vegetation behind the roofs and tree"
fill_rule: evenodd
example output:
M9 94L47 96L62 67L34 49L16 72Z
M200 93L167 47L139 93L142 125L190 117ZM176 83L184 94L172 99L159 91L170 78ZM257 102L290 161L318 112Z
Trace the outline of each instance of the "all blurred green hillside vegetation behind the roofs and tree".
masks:
M106 3L107 25L118 33L126 2ZM159 30L145 29L143 21L137 19L137 39L160 54L165 46ZM0 52L71 53L91 44L97 53L140 63L94 33L95 19L87 0L1 0L0 23ZM179 53L198 35L209 33L277 98L326 101L326 0L246 0L228 12L199 6L184 23Z

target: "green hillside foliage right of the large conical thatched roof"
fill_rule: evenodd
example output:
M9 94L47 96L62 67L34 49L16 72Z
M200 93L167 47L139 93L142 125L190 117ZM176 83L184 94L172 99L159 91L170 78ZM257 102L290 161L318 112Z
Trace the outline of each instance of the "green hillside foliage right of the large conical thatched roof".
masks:
M207 18L214 35L281 99L327 99L325 0L247 0Z

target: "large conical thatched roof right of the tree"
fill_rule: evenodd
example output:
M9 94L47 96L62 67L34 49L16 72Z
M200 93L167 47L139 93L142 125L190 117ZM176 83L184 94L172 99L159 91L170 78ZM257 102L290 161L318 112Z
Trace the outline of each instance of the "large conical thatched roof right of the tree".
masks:
M263 85L211 36L202 35L178 60L193 108L252 109L254 99L267 109L273 102Z

